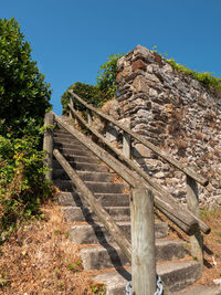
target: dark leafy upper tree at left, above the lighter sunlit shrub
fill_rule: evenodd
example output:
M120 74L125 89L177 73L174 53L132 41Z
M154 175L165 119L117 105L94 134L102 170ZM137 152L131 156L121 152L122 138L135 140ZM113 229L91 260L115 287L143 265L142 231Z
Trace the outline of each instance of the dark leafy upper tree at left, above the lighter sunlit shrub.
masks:
M19 23L14 19L0 20L1 135L11 130L21 136L30 118L35 125L42 123L50 107L49 86L31 60L31 48Z

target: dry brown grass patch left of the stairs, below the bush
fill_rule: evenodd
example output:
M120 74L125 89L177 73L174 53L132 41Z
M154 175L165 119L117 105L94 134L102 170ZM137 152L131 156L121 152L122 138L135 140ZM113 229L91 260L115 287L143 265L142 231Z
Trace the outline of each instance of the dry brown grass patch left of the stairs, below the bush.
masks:
M69 240L59 206L43 206L44 221L19 229L0 249L0 294L92 294L78 247Z

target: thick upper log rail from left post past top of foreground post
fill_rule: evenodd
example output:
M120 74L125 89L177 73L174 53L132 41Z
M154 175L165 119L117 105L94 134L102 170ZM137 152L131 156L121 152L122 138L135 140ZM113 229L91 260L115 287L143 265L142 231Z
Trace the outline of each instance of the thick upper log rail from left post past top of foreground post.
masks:
M156 189L147 183L144 183L139 177L136 176L129 168L119 162L116 158L110 156L106 150L102 149L95 145L92 139L77 131L73 126L70 126L65 120L54 114L54 118L59 125L61 125L65 130L73 135L80 143L86 146L93 154L95 154L101 160L107 164L114 171L116 171L127 183L133 188L135 187L147 187L154 192L154 202L157 209L159 209L168 219L170 219L175 224L177 224L187 234L193 234L199 225L196 218L188 212L186 209L181 208L173 198L166 194L164 196ZM207 226L207 225L206 225Z

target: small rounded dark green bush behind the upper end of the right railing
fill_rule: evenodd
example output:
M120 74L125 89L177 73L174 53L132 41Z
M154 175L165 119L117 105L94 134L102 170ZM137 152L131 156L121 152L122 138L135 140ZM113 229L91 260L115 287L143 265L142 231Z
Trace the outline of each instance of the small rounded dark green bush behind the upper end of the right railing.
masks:
M101 102L101 91L97 86L76 82L73 85L71 85L67 88L67 91L62 95L61 102L63 106L63 115L66 115L67 113L67 105L71 99L71 94L69 93L70 89L72 89L86 103L92 104L94 107L97 107ZM81 110L81 112L85 110L85 107L81 103L78 103L76 99L74 101L74 107L75 109Z

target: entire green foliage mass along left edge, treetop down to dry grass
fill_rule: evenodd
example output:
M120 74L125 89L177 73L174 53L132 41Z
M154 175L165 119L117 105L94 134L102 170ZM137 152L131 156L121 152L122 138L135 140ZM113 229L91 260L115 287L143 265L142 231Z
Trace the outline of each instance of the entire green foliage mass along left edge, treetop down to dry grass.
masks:
M0 242L51 192L42 151L51 91L14 19L0 20Z

